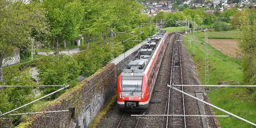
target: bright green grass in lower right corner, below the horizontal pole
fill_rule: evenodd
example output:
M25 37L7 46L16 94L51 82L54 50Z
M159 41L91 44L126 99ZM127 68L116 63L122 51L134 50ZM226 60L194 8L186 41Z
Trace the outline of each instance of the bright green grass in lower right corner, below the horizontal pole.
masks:
M211 103L253 123L256 122L256 102L243 87L221 87L208 93ZM227 115L215 109L216 115ZM235 117L218 117L223 128L255 128Z

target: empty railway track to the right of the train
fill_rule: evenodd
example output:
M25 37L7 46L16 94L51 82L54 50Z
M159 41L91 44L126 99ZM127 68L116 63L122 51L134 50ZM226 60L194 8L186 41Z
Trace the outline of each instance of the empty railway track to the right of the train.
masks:
M180 59L180 36L174 37L172 71L170 84L182 85L182 69ZM183 91L183 87L175 87ZM168 115L185 115L184 95L175 90L169 90L168 96ZM166 119L166 128L186 128L186 118L184 116L169 116Z

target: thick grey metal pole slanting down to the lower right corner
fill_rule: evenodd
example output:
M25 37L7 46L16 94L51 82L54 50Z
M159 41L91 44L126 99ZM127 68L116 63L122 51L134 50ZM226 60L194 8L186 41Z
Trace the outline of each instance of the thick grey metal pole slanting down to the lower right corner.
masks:
M236 116L235 114L232 114L232 113L230 113L230 112L228 112L228 111L226 111L226 110L223 110L223 109L221 109L221 108L219 108L219 107L217 107L217 106L214 106L214 105L212 105L212 104L210 104L210 103L208 103L208 102L205 102L204 100L198 99L198 98L196 98L196 97L194 97L194 96L192 96L192 95L190 95L190 94L188 94L188 93L186 93L186 92L180 91L179 89L176 89L176 88L174 88L174 87L172 87L172 86L170 86L170 85L167 85L167 86L170 87L170 88L172 88L172 89L174 89L174 90L176 90L176 91L178 91L178 92L181 92L181 93L183 93L183 94L185 94L185 95L187 95L187 96L189 96L189 97L191 97L191 98L194 98L194 99L196 99L196 100L198 100L198 101L200 101L200 102L203 102L203 103L205 103L205 104L207 104L207 105L209 105L209 106L211 106L211 107L213 107L213 108L216 108L216 109L218 109L218 110L220 110L220 111L222 111L222 112L225 112L225 113L227 113L228 115L234 116L234 117L236 117L236 118L238 118L238 119L240 119L240 120L242 120L242 121L244 121L244 122L246 122L246 123L249 123L249 124L252 124L253 126L256 126L256 124L254 124L254 123L252 123L252 122L250 122L250 121L248 121L248 120L245 120L244 118L241 118L241 117L239 117L239 116Z

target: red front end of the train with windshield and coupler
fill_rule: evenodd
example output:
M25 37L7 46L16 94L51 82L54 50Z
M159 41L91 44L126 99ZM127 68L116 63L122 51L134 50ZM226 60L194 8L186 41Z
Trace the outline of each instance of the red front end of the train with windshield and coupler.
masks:
M121 73L117 81L117 106L123 110L148 108L147 77L141 73Z

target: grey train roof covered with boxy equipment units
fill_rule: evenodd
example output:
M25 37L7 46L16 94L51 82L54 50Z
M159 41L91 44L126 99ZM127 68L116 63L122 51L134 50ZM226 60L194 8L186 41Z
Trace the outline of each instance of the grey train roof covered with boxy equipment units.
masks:
M149 60L155 53L156 48L165 33L166 30L162 30L156 33L151 38L145 40L148 42L143 46L139 53L129 62L126 68L124 68L122 76L143 76L143 72L147 68Z

